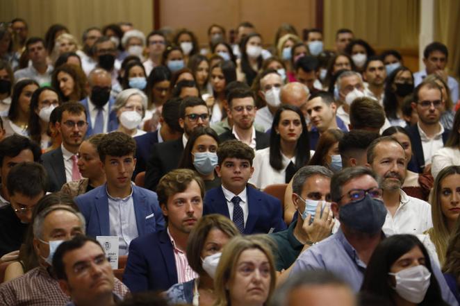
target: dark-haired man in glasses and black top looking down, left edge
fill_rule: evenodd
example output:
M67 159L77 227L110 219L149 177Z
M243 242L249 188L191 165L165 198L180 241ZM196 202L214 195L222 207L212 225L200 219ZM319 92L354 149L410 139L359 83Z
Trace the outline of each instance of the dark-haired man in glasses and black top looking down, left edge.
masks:
M47 192L47 173L36 162L21 162L8 173L7 188L10 205L0 209L0 256L23 243L33 207Z

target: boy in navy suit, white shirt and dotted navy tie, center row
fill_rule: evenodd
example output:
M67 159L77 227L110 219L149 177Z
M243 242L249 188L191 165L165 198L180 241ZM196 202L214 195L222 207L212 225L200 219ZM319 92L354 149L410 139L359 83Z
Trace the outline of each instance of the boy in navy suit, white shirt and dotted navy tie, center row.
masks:
M254 150L229 140L217 148L217 158L215 170L222 186L206 192L203 214L223 214L246 235L286 229L280 201L247 185L254 172Z

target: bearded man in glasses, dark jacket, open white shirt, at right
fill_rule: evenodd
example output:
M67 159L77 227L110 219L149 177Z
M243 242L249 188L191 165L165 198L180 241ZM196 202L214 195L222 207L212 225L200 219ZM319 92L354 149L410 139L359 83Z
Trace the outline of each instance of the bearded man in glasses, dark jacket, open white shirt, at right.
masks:
M444 98L441 87L435 82L422 82L414 91L413 110L418 114L418 123L409 126L407 131L411 135L412 165L418 173L430 173L432 156L443 148L450 130L445 130L439 122L444 112Z

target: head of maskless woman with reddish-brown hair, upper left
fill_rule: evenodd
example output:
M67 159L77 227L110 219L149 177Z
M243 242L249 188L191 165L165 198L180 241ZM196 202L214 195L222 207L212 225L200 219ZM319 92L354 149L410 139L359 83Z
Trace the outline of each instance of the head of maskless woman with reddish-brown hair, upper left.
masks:
M67 101L81 101L86 98L87 79L80 67L63 64L54 69L51 76L51 86L56 89L60 99Z

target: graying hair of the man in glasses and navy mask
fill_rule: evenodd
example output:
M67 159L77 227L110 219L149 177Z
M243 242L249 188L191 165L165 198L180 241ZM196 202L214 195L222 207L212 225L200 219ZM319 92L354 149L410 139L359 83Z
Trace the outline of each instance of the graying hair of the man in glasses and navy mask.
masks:
M377 181L380 186L380 179L377 174L368 167L357 166L342 169L331 178L331 201L338 203L342 198L342 187L350 180L361 176L370 176Z

